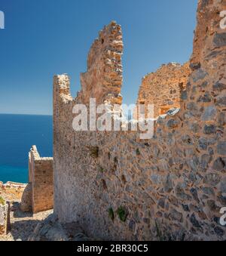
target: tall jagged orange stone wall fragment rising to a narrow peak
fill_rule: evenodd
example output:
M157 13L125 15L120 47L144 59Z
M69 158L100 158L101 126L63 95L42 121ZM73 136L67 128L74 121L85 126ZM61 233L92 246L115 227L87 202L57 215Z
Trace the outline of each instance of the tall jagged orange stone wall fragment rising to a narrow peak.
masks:
M99 39L90 48L87 72L81 73L83 103L89 103L90 98L96 98L97 103L108 100L121 104L123 46L121 26L115 22L99 32Z

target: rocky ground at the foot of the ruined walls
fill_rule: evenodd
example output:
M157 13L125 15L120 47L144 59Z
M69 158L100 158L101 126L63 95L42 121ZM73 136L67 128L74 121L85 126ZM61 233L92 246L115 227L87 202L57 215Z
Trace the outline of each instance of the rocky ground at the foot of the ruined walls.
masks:
M23 212L20 201L27 184L0 182L0 198L11 205L11 230L0 241L88 241L79 224L60 224L53 210L38 214ZM93 239L92 239L93 240Z

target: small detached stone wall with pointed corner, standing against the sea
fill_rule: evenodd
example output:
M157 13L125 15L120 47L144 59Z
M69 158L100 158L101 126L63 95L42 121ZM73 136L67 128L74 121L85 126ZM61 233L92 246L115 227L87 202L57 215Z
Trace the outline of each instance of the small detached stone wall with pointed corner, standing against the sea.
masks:
M41 158L35 146L29 152L29 184L20 208L33 213L53 208L53 159Z

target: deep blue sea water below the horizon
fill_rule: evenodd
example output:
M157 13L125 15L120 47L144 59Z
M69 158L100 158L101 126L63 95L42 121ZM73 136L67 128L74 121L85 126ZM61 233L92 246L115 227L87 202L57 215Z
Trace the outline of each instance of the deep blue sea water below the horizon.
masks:
M0 114L0 180L28 182L28 153L53 156L52 116Z

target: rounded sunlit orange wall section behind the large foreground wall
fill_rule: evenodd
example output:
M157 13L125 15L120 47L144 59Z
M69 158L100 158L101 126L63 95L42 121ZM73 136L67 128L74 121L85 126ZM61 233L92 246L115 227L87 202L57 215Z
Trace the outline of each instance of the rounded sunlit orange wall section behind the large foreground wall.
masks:
M136 102L137 106L145 105L145 117L148 118L148 104L154 105L154 117L165 114L169 109L179 108L181 93L187 85L190 73L189 63L183 66L169 63L161 66L157 72L145 76ZM136 110L133 118L138 118Z

